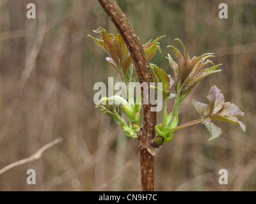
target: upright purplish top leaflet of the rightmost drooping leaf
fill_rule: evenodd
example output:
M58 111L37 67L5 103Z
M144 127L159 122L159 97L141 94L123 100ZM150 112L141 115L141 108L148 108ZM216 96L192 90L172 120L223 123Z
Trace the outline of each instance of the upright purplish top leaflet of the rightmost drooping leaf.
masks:
M209 116L214 117L221 108L223 107L225 101L224 96L221 94L220 89L218 89L215 85L211 88L207 99L210 102L209 106Z

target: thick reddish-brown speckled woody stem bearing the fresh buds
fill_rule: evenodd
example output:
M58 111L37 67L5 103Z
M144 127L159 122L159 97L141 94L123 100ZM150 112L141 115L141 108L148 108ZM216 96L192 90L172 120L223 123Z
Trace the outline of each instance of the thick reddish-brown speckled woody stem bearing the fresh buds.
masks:
M140 83L152 82L152 74L140 39L122 10L114 0L99 0L129 49L134 61ZM143 92L143 90L141 90ZM149 98L149 97L148 97ZM142 191L154 191L154 147L152 141L156 132L156 112L151 112L152 105L143 105L143 133L140 137L141 187Z

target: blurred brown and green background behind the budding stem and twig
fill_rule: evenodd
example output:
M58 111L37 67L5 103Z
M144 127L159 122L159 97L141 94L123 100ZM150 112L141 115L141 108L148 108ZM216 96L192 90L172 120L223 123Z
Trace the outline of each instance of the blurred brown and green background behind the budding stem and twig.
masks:
M117 2L141 43L166 35L152 62L167 73L165 57L175 56L167 46L181 49L175 38L191 57L214 52L212 61L222 63L222 71L184 101L180 124L200 118L191 99L207 103L212 85L244 112L246 133L223 122L215 122L222 133L211 141L200 124L177 131L175 140L157 149L155 189L256 191L256 1ZM26 17L28 3L35 3L36 19ZM228 5L227 19L218 17L220 3ZM0 175L0 191L141 190L138 141L93 103L96 82L119 80L107 54L88 38L99 38L93 33L98 27L118 33L98 1L0 0L0 168L63 138L37 161ZM162 118L157 113L158 124ZM31 168L36 185L26 183ZM228 185L218 183L222 168Z

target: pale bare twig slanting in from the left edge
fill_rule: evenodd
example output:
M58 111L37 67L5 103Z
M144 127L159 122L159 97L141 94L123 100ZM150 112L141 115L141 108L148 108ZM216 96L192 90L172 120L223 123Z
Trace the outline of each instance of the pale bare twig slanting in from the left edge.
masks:
M60 143L63 139L62 138L58 138L50 143L47 143L47 145L44 145L44 147L42 147L40 150L38 150L35 154L31 155L30 157L26 158L26 159L22 159L22 160L19 160L19 161L15 161L14 163L12 164L9 164L7 166L4 166L4 168L2 168L0 170L0 175L2 173L4 173L5 171L8 171L10 170L11 168L14 168L16 166L20 166L22 164L26 164L26 163L29 163L31 161L36 161L37 159L39 159L41 156L42 156L42 153L51 148L52 146L54 145L57 145L58 143Z

